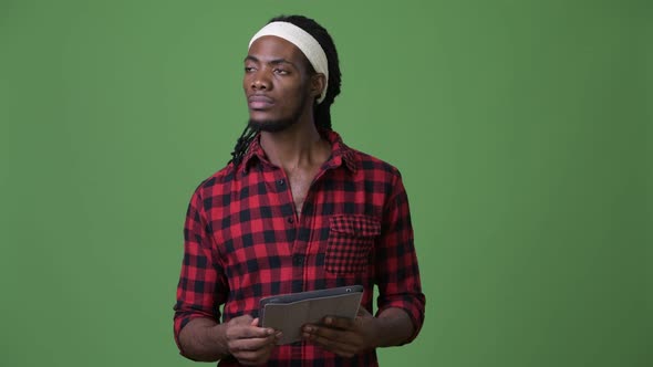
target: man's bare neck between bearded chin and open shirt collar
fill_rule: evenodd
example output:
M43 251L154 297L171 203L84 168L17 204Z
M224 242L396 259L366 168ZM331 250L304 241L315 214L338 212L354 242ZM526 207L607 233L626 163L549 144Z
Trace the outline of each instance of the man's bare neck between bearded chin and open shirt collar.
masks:
M270 162L286 172L321 165L331 153L312 118L298 122L281 132L262 132L260 144Z

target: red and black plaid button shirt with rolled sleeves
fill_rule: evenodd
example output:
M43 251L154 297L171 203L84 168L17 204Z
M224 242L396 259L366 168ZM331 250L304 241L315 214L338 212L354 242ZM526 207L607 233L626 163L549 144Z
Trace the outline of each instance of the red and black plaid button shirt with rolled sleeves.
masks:
M424 321L408 201L396 168L345 146L328 132L324 162L297 216L283 170L267 159L258 137L232 164L195 191L185 224L175 339L195 317L222 322L258 315L263 296L362 284L362 306L404 310ZM182 350L183 353L183 350ZM270 366L376 366L374 350L341 358L310 343L277 346ZM220 366L238 366L225 358Z

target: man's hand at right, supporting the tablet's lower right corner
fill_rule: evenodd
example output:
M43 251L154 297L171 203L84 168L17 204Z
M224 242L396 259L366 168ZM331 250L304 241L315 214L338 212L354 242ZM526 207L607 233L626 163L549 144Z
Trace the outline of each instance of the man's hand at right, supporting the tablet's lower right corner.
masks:
M351 358L375 348L376 318L364 307L359 308L356 318L326 316L321 324L307 324L302 337L341 357Z

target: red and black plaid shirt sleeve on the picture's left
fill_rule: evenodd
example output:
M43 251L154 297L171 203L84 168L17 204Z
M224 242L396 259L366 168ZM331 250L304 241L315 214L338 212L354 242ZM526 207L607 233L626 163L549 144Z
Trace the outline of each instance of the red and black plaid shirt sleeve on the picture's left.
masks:
M219 258L214 254L214 240L204 210L201 186L195 191L184 224L184 260L177 302L174 306L175 342L182 355L179 333L196 317L207 317L219 322L219 305L226 300L228 283Z

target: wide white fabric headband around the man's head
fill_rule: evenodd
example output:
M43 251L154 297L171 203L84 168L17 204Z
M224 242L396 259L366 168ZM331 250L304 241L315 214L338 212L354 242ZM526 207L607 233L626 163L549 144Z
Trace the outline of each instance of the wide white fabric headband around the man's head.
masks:
M324 90L318 103L322 103L326 96L326 87L329 86L329 66L326 63L326 54L320 43L310 35L307 31L301 28L288 23L288 22L271 22L268 25L261 28L249 41L249 48L253 41L260 39L263 35L276 35L284 39L286 41L294 44L303 54L307 56L315 72L324 74L326 81L324 82Z

